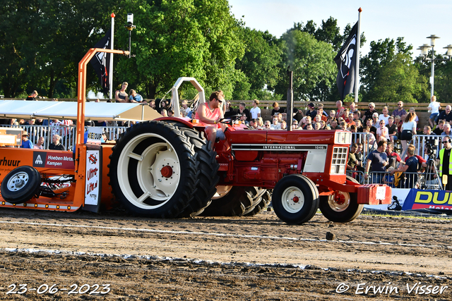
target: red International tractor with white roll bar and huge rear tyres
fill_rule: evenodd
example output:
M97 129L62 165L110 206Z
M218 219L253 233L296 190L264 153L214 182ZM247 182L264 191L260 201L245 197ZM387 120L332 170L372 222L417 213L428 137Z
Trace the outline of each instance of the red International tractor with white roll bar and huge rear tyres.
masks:
M172 87L175 116L179 78ZM386 185L345 176L352 134L342 130L249 130L227 118L226 140L206 140L195 119L162 117L129 128L110 156L114 195L154 217L253 215L271 202L280 219L305 223L317 209L331 221L355 219L364 204L391 204ZM359 197L358 197L359 195Z

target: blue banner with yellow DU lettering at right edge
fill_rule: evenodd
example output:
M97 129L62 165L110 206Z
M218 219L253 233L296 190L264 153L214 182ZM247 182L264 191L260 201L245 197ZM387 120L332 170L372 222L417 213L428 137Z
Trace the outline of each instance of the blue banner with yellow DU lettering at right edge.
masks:
M452 192L411 189L403 202L402 210L411 209L452 210Z

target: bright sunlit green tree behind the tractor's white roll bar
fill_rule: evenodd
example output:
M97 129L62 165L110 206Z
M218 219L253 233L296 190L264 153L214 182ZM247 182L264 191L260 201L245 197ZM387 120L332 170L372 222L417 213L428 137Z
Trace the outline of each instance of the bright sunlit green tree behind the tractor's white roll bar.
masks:
M177 78L196 78L208 92L234 90L234 63L244 54L239 21L226 0L133 0L133 60L119 61L119 72L137 82L150 98L169 90Z

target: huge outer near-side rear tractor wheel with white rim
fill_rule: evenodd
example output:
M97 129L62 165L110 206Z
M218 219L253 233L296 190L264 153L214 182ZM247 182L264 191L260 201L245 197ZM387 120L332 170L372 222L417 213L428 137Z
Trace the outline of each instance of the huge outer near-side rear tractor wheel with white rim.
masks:
M112 192L131 213L177 217L198 185L196 152L185 131L160 121L128 128L112 149Z

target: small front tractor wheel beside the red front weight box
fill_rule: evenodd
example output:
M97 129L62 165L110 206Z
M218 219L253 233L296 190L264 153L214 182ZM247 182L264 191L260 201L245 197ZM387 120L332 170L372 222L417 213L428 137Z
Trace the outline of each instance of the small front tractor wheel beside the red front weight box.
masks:
M359 183L350 176L347 176L347 180ZM358 204L357 193L336 191L332 198L320 197L319 209L329 221L337 223L353 221L361 214L363 208L363 204Z

